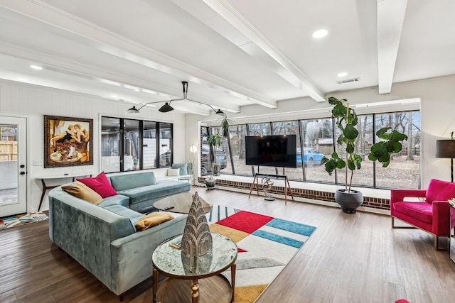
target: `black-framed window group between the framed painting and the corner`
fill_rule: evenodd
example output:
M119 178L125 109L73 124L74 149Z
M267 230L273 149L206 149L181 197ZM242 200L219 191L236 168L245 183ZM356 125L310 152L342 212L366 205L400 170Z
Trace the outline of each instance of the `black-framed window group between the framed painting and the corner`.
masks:
M146 170L169 167L171 163L171 123L102 117L103 171Z

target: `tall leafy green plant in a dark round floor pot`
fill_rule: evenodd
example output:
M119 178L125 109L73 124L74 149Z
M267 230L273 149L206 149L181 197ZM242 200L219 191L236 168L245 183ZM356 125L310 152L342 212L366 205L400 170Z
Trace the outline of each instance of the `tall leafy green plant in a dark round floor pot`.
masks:
M346 105L343 104L346 102ZM354 109L349 108L346 99L336 99L329 97L328 103L333 106L332 118L341 135L336 141L340 150L346 153L346 158L342 159L338 153L334 152L331 158L324 157L321 165L324 165L328 175L332 175L336 169L346 167L345 188L338 189L335 192L335 201L340 204L341 209L347 213L355 213L355 209L363 203L362 192L351 189L353 174L355 170L360 170L363 156L357 153L358 148L355 146L355 140L358 137L358 130L355 126L358 123L358 116ZM381 128L376 132L376 136L381 139L378 143L371 145L368 159L371 161L378 160L382 167L390 164L390 155L399 153L402 150L402 141L407 140L407 136L391 127ZM350 177L348 181L348 170Z

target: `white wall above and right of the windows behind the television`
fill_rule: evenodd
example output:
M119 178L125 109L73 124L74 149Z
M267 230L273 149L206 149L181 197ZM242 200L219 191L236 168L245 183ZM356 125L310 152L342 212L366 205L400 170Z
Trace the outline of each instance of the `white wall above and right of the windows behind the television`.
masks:
M350 104L365 104L378 101L400 99L421 99L420 119L422 133L422 188L426 188L430 179L450 181L450 160L435 158L436 140L450 138L455 131L455 75L424 79L414 82L402 82L392 85L390 94L378 94L378 87L355 89L326 94L328 97L348 99ZM331 106L327 102L318 103L309 98L284 100L278 102L279 109L267 109L263 106L244 106L241 114L230 114L234 123L258 123L291 119L314 119L330 116ZM382 106L370 109L356 109L358 114L370 114L375 111L401 111L416 109L414 106ZM418 107L417 107L418 109ZM218 117L200 117L187 115L187 143L199 142L198 123L216 125ZM188 155L187 155L188 157ZM188 158L187 158L188 160Z

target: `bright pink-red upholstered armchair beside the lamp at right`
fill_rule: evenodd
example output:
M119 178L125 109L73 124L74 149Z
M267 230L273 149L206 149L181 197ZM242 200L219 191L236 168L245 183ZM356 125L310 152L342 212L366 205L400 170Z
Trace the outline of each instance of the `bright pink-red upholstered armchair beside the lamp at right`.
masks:
M405 198L425 198L423 202L404 201ZM434 236L434 249L438 250L438 237L448 237L449 202L455 197L455 183L432 179L427 189L391 189L390 214L392 228L409 228L395 226L394 219L420 228Z

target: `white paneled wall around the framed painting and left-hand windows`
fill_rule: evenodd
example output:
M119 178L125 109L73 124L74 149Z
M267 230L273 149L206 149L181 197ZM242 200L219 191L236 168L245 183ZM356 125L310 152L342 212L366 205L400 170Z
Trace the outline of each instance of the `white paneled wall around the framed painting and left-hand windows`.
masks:
M59 89L49 89L28 84L0 81L0 114L8 116L21 115L28 119L27 133L27 171L28 194L27 209L36 211L41 198L42 176L97 175L100 172L100 116L114 116L128 119L145 119L173 123L174 162L183 162L185 150L185 115L172 111L160 113L157 109L141 109L140 114L127 116L125 111L131 106L120 101L101 99L87 94L77 94ZM73 118L93 119L93 165L74 167L44 168L43 165L33 165L33 162L43 162L44 157L44 115L68 116ZM46 184L61 184L71 179L46 180ZM48 197L43 200L41 210L48 209Z

